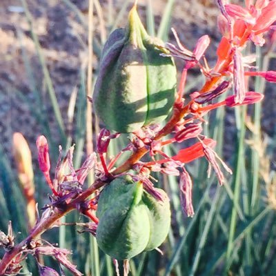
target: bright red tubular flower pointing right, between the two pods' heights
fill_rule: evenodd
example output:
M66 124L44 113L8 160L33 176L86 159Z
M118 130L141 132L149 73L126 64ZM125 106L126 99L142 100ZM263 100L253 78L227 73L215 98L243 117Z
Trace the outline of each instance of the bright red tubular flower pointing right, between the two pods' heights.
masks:
M200 142L197 142L193 146L179 150L178 154L172 157L172 159L175 161L181 161L182 163L188 163L199 157L203 157L204 146L202 145L202 143L210 148L214 148L217 144L215 140L206 138Z

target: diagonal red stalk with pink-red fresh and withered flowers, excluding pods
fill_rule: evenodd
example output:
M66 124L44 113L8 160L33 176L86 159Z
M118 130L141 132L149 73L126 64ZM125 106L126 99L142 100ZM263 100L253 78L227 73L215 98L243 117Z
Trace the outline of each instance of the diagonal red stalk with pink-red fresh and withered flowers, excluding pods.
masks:
M248 76L276 81L275 71L257 71L258 68L250 65L254 59L244 57L242 54L248 41L263 46L265 34L275 30L273 23L276 20L276 0L257 0L255 4L251 0L245 2L245 8L242 8L226 0L217 0L221 10L218 26L222 38L217 48L217 62L213 68L208 66L204 56L210 44L207 35L199 38L195 48L189 50L181 43L177 32L172 29L177 45L166 43L165 46L159 46L164 50L161 55L184 61L172 115L163 128L159 124L153 124L132 132L128 145L117 152L115 157L108 156L108 146L111 139L119 139L120 133L112 133L103 128L97 139L97 153L88 156L77 170L72 162L74 147L68 150L63 159L60 148L59 161L53 178L50 176L51 164L46 137L40 136L37 139L39 167L52 191L50 204L43 208L43 215L41 219L37 219L30 237L20 244L14 245L11 226L8 235L0 233L0 246L7 251L0 262L0 275L18 273L21 270L21 261L29 253L35 256L51 255L73 275L81 275L68 261L67 255L70 254L68 250L40 244L35 242L36 238L48 228L58 226L59 218L73 209L79 210L79 213L91 219L92 222L83 224L83 231L95 235L99 223L95 215L98 192L117 177L130 177L133 181L139 181L143 184L144 190L157 200L162 200L162 195L155 188L155 179L150 175L151 172L179 177L180 199L183 210L189 217L193 217L195 212L192 201L193 180L186 170L187 163L205 157L210 164L208 173L210 174L210 168L213 168L219 184L224 183L221 166L229 173L231 170L216 154L214 150L216 141L201 134L202 125L206 122L204 115L221 106L235 107L261 101L262 94L247 90ZM195 67L199 68L205 77L204 86L198 91L192 91L189 98L184 99L187 73ZM233 95L226 95L230 88L233 88ZM221 100L219 96L223 94L226 97ZM193 139L195 143L182 148L174 156L168 156L163 150L168 144L181 143L188 139ZM130 152L130 156L121 162L124 152ZM146 155L148 159L142 159ZM92 169L95 171L95 183L86 188L84 182ZM87 199L90 195L94 197ZM38 265L41 275L58 275L52 268Z

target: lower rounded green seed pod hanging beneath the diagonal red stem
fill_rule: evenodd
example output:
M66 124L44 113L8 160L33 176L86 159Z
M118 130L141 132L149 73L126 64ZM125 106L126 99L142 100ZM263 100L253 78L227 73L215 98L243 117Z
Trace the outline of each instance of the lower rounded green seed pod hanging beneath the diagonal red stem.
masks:
M100 194L97 208L97 242L115 259L130 259L144 250L157 248L170 228L170 204L157 201L140 183L115 179Z

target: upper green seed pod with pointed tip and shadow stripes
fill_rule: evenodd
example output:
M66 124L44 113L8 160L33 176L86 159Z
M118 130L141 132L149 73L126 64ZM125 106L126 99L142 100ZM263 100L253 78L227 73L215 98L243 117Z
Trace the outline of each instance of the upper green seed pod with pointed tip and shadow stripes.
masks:
M175 101L176 68L161 57L163 42L150 37L130 10L128 27L110 34L99 66L93 100L106 128L134 132L164 121Z

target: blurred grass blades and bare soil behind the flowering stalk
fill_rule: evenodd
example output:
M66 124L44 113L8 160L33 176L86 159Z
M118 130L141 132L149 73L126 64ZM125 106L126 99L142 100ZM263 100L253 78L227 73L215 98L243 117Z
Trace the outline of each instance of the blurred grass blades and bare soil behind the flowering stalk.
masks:
M50 141L52 172L59 144L63 150L76 144L75 166L81 164L87 150L86 130L92 129L88 134L96 137L100 127L90 117L86 95L97 77L103 43L110 31L125 26L131 4L128 0L0 1L0 230L6 232L11 220L18 241L33 224L33 197L40 209L50 193L38 169L35 140L42 134ZM214 64L220 39L215 1L141 0L139 12L148 32L164 41L175 42L172 26L190 49L208 34L212 42L206 57L210 66ZM246 51L257 52L259 68L273 70L275 47L269 38L267 42L269 47L251 45ZM181 61L177 66L180 72ZM197 90L203 81L193 70L188 90ZM264 92L262 103L216 110L204 128L208 137L217 140L216 151L233 168L233 175L226 175L226 185L218 187L214 175L207 178L205 160L188 166L194 181L193 218L181 211L177 178L156 176L170 195L172 228L161 246L164 255L141 253L130 261L130 275L275 275L276 89L258 78L250 79L249 86ZM26 137L30 160L28 149L21 159L17 150L23 150L24 144L20 135L12 139L14 132ZM110 154L122 144L124 139L113 143ZM172 155L177 148L166 151ZM77 213L63 219L73 221L85 219ZM43 239L72 249L72 262L84 275L115 275L110 257L97 248L95 239L78 234L75 226L53 228ZM58 269L55 260L45 262ZM38 275L31 256L24 272Z

